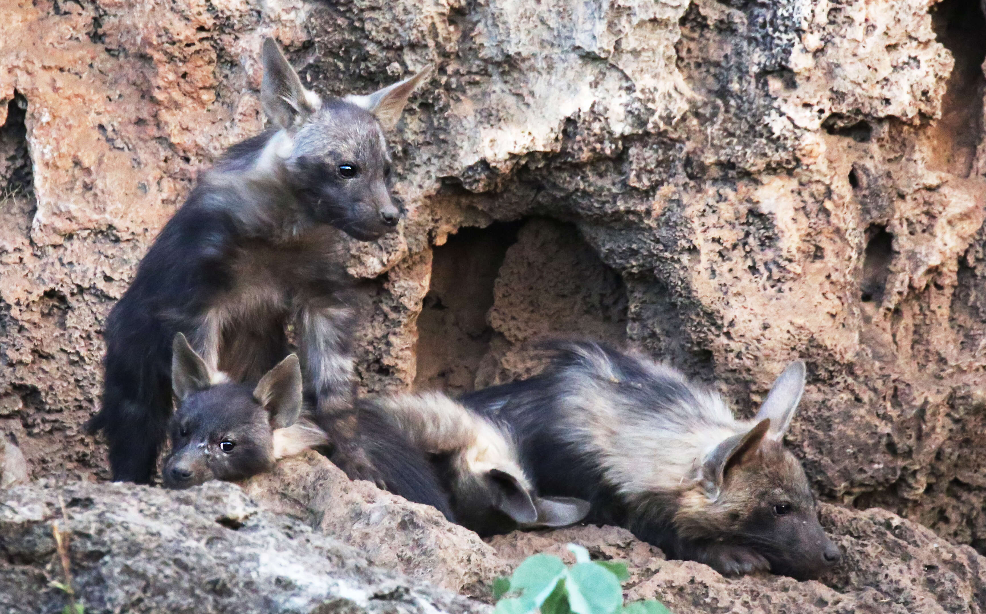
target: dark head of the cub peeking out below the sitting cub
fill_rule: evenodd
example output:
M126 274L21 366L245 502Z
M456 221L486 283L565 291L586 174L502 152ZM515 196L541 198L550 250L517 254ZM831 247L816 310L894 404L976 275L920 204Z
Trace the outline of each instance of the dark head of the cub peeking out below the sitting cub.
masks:
M243 480L274 463L274 430L290 427L302 409L302 372L288 356L255 387L221 381L175 337L172 388L178 402L169 423L172 451L165 458L168 488L208 480Z

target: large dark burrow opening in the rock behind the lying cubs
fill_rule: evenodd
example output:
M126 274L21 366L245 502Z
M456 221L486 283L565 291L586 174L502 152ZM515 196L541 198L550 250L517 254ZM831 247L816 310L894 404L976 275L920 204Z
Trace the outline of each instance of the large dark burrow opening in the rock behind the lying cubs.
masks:
M572 224L464 228L433 251L415 388L464 392L538 369L532 343L626 338L623 280Z

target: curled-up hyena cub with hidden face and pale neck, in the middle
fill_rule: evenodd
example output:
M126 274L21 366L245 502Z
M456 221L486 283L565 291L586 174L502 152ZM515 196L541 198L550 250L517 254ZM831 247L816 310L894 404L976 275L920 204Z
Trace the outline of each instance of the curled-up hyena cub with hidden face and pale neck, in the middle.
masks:
M579 499L538 496L506 425L444 394L382 396L361 403L361 418L382 416L431 456L456 521L480 535L564 526L589 512L589 503Z

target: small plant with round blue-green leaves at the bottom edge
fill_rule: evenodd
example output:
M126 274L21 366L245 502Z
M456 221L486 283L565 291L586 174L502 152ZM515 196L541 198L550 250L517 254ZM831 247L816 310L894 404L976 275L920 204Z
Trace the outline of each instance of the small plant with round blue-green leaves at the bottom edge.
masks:
M548 554L528 557L508 578L493 582L494 614L670 614L660 601L648 599L623 605L620 584L630 579L626 565L591 561L589 551L576 544L568 549L575 565L567 567Z

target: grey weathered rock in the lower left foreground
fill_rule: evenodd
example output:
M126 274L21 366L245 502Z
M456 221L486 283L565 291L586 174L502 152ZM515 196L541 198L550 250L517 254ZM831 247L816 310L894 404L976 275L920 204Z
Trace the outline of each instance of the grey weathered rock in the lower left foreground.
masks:
M119 484L0 492L4 612L67 604L48 583L66 581L53 530L67 540L87 613L488 611L372 569L352 548L211 482L184 492Z

